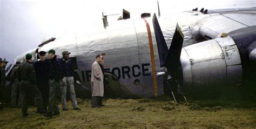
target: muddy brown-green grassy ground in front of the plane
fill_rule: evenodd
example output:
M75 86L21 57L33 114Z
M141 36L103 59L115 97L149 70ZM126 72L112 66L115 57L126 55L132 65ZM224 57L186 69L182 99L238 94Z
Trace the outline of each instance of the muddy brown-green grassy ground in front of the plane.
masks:
M212 100L188 100L175 104L171 97L104 99L105 106L92 108L91 99L78 98L81 111L60 111L45 118L30 106L22 118L21 108L0 111L0 128L256 128L255 104L222 106ZM61 105L59 105L61 107Z

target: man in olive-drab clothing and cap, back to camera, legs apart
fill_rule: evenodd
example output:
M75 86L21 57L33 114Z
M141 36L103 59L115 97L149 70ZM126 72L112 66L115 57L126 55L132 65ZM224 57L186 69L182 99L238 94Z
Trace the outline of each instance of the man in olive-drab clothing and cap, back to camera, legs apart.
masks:
M28 99L32 94L36 97L37 112L43 113L42 95L36 87L36 73L32 64L32 55L30 53L25 56L26 62L18 67L18 79L21 81L22 93L22 113L23 117L28 116Z

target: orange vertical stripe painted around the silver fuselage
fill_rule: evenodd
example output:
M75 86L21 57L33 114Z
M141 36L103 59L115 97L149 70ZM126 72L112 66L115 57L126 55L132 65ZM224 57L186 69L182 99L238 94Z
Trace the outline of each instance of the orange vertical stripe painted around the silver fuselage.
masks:
M154 49L152 42L152 35L150 31L149 23L146 19L144 19L147 26L147 35L149 37L149 45L150 45L150 57L151 57L151 67L152 67L152 78L153 78L153 86L154 86L154 96L157 96L157 77L156 77L156 65L154 64Z

